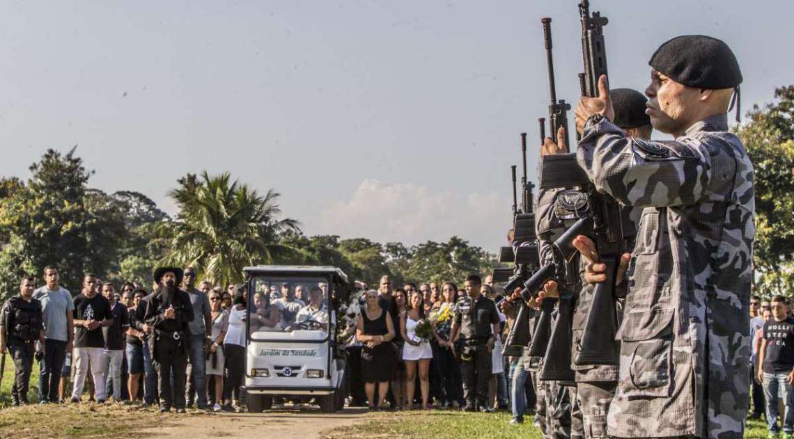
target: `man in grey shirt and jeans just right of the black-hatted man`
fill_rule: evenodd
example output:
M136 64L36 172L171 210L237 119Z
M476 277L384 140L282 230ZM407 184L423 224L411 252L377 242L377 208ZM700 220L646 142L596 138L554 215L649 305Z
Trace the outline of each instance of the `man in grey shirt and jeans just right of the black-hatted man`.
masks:
M206 408L206 380L204 380L204 371L206 363L204 361L204 345L206 344L207 329L212 328L210 319L210 296L209 292L212 285L207 282L199 284L201 289L195 288L196 270L193 267L185 269L183 286L187 292L187 296L191 298L191 305L193 306L193 315L195 316L187 326L191 330L191 352L190 364L187 365L187 385L185 391L187 392L186 401L187 407L193 405L194 396L198 395L195 399L196 406L199 409Z

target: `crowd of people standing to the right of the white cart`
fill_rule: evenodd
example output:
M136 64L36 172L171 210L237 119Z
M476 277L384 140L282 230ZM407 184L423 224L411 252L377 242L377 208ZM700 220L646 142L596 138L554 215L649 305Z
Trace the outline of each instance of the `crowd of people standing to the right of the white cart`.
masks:
M384 276L362 300L348 347L354 405L534 409L530 380L511 388L520 358L504 357L502 345L514 315L492 277L472 274L459 290L452 281L393 288Z

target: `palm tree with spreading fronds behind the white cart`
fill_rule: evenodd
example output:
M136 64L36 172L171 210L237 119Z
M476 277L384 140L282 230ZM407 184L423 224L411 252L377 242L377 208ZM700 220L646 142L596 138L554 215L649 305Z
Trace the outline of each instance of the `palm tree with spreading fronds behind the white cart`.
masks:
M229 173L200 177L187 174L168 193L179 207L174 221L164 223L170 250L164 263L192 265L215 284L239 282L246 265L271 264L292 250L279 243L285 231L300 231L296 219L278 219L279 193L264 197Z

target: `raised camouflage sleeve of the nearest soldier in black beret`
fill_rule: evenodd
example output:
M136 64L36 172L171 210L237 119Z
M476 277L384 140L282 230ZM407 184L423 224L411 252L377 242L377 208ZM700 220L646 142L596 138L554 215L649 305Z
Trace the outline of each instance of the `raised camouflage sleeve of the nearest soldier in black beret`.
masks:
M696 139L632 139L609 120L588 127L576 151L599 192L636 207L696 204L711 177L710 157Z

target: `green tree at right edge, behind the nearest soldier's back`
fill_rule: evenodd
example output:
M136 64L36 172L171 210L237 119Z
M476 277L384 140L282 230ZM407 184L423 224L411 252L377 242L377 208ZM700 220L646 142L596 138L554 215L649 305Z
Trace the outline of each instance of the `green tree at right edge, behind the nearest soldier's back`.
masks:
M792 295L794 284L794 86L775 90L738 129L754 166L757 292Z

